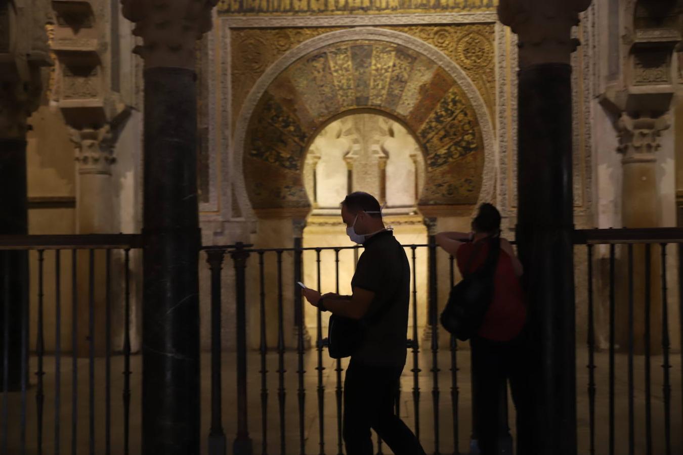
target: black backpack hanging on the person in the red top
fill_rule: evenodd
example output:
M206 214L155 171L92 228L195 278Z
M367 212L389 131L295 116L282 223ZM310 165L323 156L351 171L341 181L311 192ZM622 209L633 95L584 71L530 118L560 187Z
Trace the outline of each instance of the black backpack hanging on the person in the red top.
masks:
M454 334L458 340L466 341L479 332L484 316L493 299L493 280L501 251L499 236L482 240L488 241L488 255L479 269L469 272L479 246L475 246L466 267L464 276L456 284L448 297L446 308L441 313L441 325Z

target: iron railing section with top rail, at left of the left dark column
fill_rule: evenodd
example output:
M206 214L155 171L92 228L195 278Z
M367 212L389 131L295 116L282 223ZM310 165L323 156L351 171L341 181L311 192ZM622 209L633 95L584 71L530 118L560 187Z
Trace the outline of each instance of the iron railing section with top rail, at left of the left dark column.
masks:
M70 420L70 453L76 454L83 452L83 448L79 450L79 402L81 398L87 397L87 451L90 454L94 453L112 453L112 368L111 361L113 357L112 347L112 333L111 322L113 307L113 287L116 286L112 282L112 271L115 268L112 257L114 254L122 256L122 280L123 285L122 306L124 308L124 327L123 327L123 346L121 355L123 357L123 375L124 383L122 386L122 435L115 435L117 441L116 446L120 450L115 450L116 453L129 453L130 445L130 251L141 248L141 238L139 235L0 235L0 261L3 265L5 273L3 274L3 289L2 289L2 309L3 309L3 379L2 379L2 430L0 447L3 454L26 454L26 453L46 453L44 446L44 419L46 395L49 394L54 397L53 411L54 411L54 428L53 438L50 441L50 452L54 454L66 453L64 448L64 431L61 425L66 422L64 415L62 415L62 360L64 350L62 349L62 320L64 304L62 301L63 293L70 290L70 310L72 320L72 334L71 334L71 420ZM103 253L103 254L102 254ZM31 257L29 257L31 254ZM101 256L104 256L102 259ZM79 266L81 261L85 260L85 269L87 274L80 273ZM49 296L53 304L54 310L54 332L55 339L53 344L53 355L46 352L46 305L48 304L45 287L45 269L47 263L52 262L54 293ZM28 272L29 262L36 267L36 287L31 291L36 293L36 333L29 337L29 304L23 302L20 295L10 295L10 283L8 282L8 270L10 267L25 267ZM62 269L64 263L67 263L70 269L70 284L69 289L64 289ZM27 275L27 274L26 274ZM84 276L85 275L85 276ZM25 292L29 289L28 276L23 280ZM79 287L79 280L87 280L87 298L85 298L87 308L82 308L83 305L83 287ZM104 302L102 300L102 293L96 288L96 282L104 282ZM97 297L96 297L97 295ZM79 297L80 296L80 297ZM17 300L18 299L18 300ZM104 333L96 332L96 301L98 304L104 303ZM10 308L12 305L20 305L23 307L23 317L21 317L21 336L20 336L20 385L16 392L12 390L12 385L9 383L10 364L8 359L10 357ZM79 383L79 354L76 350L79 346L79 333L83 333L79 328L79 314L87 311L87 392L81 389ZM13 321L16 322L16 321ZM98 327L98 329L101 327ZM35 337L35 349L31 349L31 340ZM101 364L100 360L96 360L96 340L104 338L104 384L96 382L96 364ZM32 353L29 357L29 353ZM51 383L51 390L46 390L46 383L44 377L46 375L45 361L48 357L53 357L53 382ZM29 411L29 359L31 364L35 364L35 399L36 412ZM104 444L96 446L96 416L102 417L100 402L96 402L96 389L104 388ZM30 387L33 388L33 387ZM101 389L100 389L101 390ZM18 404L14 400L18 394ZM12 398L12 413L10 414L10 396ZM18 418L17 418L18 417ZM10 424L12 427L10 428ZM10 431L10 429L12 431ZM35 430L35 438L29 439L29 430Z

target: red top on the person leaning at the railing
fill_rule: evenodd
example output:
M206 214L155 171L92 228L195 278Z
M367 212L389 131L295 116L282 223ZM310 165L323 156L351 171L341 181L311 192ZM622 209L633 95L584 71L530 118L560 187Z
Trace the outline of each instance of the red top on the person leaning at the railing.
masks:
M470 263L470 256L475 252L475 243L460 245L456 253L458 269L463 274L463 268L469 265L468 271L476 270L486 261L488 242L477 248ZM519 278L514 273L512 258L501 248L498 265L494 275L493 300L484 316L482 327L477 334L482 338L494 341L510 341L522 331L527 319L527 308Z

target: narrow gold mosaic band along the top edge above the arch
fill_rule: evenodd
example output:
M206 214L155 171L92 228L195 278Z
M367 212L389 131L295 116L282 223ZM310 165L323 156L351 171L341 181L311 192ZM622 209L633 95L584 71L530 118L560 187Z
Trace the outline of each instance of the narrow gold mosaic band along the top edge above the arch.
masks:
M494 11L498 0L221 0L219 16L423 14Z

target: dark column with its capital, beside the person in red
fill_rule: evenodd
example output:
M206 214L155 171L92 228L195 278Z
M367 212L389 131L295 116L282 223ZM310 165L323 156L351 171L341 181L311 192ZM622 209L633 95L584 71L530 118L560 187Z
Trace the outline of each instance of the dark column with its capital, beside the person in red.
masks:
M571 29L589 0L501 0L519 37L518 254L528 296L531 398L518 452L576 454ZM527 408L528 407L528 408Z

